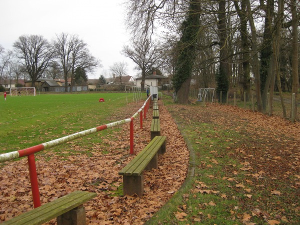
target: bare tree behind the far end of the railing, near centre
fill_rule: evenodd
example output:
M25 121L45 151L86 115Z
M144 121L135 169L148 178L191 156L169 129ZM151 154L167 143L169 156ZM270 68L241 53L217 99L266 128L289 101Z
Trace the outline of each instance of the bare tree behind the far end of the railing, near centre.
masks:
M145 76L152 67L160 67L161 55L158 42L153 43L149 38L133 41L132 47L123 46L121 53L136 63L136 69L141 71L141 89L144 89Z

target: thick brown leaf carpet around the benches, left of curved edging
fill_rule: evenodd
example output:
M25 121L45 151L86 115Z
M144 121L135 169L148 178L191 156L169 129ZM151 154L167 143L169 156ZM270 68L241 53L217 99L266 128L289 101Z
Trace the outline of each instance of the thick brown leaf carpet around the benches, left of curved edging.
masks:
M159 105L161 102L159 103ZM137 111L140 102L127 105L109 120L117 121ZM158 158L158 169L144 171L144 196L122 196L122 176L118 171L150 141L151 109L140 129L134 120L134 154L129 154L129 123L100 138L92 153L76 140L61 146L59 154L47 150L36 155L42 204L74 190L97 193L84 204L88 224L139 224L149 219L180 187L188 167L188 149L173 118L161 106L161 135L167 136L166 153ZM86 138L86 137L85 137ZM69 149L72 154L69 154ZM76 153L78 152L78 153ZM33 206L27 159L7 163L0 174L0 221L8 220ZM55 219L49 222L55 223Z

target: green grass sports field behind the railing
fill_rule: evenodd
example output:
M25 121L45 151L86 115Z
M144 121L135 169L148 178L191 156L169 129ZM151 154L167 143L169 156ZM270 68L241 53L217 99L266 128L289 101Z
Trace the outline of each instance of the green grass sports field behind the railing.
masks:
M128 101L132 101L129 95ZM105 102L98 102L100 97ZM113 122L107 118L125 104L126 93L7 96L6 101L0 101L0 153ZM99 140L90 138L86 143L93 141Z

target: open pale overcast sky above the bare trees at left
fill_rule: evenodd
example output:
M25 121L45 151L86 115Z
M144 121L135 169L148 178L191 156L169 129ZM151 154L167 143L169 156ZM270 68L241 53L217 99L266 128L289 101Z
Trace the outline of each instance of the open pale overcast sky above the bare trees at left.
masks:
M128 75L135 76L135 64L120 54L129 44L124 19L124 0L0 0L0 44L12 49L20 35L43 35L48 40L61 32L78 34L102 68L89 78L110 73L113 62L126 61Z

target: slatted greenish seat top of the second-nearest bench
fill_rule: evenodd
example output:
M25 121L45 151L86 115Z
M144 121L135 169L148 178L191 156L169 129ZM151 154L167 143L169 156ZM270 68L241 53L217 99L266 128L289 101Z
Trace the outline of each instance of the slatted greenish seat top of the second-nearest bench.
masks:
M165 139L165 138L164 138ZM145 148L140 151L125 167L123 167L118 174L119 175L132 175L133 171L139 165L145 157L150 153L150 151L153 149L153 146L156 146L157 143L159 143L159 139L155 138L152 139ZM152 146L153 145L153 146ZM139 172L139 174L142 172L142 170ZM137 172L135 172L135 175L139 175Z

